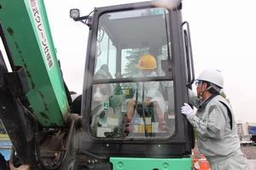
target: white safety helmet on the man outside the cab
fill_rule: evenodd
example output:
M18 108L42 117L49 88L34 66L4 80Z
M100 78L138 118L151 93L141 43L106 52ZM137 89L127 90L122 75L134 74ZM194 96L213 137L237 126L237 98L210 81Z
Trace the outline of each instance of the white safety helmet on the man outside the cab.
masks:
M224 87L224 77L222 73L218 70L205 70L202 71L201 75L198 77L198 81L207 81L210 82L212 88L220 91ZM217 86L217 87L216 87Z

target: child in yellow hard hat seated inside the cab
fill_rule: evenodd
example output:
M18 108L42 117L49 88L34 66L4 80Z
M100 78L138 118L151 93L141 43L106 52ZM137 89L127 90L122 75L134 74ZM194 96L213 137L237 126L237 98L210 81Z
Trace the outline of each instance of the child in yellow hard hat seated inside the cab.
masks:
M145 54L139 59L137 68L140 72L135 77L157 77L154 69L156 68L156 60L153 55ZM159 118L160 131L166 131L169 127L166 126L164 113L166 109L166 102L163 95L160 93L160 82L139 82L137 85L137 93L133 98L127 102L127 119L125 124L125 133L130 133L132 130L131 119L134 114L136 99L138 104L148 106L153 103L157 116ZM144 92L143 92L144 89ZM143 96L144 94L144 96Z

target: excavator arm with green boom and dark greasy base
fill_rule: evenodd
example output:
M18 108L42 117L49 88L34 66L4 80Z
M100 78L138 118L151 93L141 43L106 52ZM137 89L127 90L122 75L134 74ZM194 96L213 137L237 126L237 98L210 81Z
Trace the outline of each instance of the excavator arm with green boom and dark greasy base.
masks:
M67 156L78 115L71 114L44 1L0 5L0 119L13 147L9 167L55 169Z

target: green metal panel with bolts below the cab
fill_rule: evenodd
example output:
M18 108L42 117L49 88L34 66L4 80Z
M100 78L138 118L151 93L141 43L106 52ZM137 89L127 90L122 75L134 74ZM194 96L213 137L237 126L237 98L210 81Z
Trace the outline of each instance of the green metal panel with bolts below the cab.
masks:
M191 170L191 158L137 158L137 157L111 157L113 170Z

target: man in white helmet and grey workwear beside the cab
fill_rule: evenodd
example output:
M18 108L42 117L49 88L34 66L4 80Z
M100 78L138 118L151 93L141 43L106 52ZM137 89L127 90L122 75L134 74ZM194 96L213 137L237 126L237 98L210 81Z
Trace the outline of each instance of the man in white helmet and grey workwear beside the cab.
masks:
M220 71L206 70L195 81L197 94L189 89L189 103L182 114L198 133L198 148L207 157L212 170L249 170L247 158L241 152L235 117L229 102L219 95L224 86Z

